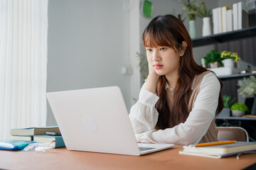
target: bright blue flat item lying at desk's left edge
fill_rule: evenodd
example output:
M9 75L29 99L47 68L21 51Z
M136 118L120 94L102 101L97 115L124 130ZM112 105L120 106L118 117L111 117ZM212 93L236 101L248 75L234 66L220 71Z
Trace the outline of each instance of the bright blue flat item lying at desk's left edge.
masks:
M23 140L0 140L0 149L21 150L31 143L34 143L34 142L33 141L23 141Z

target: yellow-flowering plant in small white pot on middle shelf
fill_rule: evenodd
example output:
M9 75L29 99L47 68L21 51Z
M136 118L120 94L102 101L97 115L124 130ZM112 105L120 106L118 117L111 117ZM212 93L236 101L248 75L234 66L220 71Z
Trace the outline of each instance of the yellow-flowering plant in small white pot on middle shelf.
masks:
M238 62L238 60L241 60L241 58L238 57L237 52L229 52L226 50L221 52L220 57L224 64L224 67L234 67L234 62Z

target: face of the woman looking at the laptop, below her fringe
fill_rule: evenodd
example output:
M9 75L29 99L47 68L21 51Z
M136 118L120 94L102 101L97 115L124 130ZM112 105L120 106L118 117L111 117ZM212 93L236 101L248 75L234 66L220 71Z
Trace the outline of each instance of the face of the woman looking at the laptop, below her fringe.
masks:
M146 47L146 58L149 66L153 67L156 74L178 74L181 52L172 47L156 46Z

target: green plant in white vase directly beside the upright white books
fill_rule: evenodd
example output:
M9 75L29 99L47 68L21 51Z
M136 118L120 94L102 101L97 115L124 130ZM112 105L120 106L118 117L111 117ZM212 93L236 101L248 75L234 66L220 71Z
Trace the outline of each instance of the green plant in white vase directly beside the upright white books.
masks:
M202 35L207 36L211 35L211 26L210 26L210 17L212 16L212 7L206 8L205 1L201 0L200 3L197 3L196 6L198 7L197 16L203 19L203 30Z

